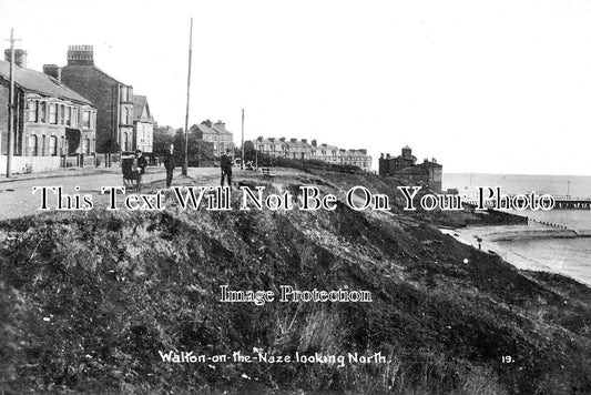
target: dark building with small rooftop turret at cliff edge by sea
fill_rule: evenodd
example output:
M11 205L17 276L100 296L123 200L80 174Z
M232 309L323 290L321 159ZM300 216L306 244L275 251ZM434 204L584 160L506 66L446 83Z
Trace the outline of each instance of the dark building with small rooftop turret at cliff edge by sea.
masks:
M406 180L412 180L428 184L432 190L441 192L441 181L444 166L432 158L425 159L420 164L416 164L417 158L412 155L412 150L407 145L399 156L381 154L379 158L379 175L397 175Z

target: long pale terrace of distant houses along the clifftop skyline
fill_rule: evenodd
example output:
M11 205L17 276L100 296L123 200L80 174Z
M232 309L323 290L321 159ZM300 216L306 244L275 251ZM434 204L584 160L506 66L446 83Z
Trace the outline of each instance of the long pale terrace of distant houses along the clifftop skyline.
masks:
M296 160L319 160L334 164L349 164L365 171L371 171L371 156L367 150L344 150L335 145L318 144L307 139L263 138L252 141L256 151L274 156Z

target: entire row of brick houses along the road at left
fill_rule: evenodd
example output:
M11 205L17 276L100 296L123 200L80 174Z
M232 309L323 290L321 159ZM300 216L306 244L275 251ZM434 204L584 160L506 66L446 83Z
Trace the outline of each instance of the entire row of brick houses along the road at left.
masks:
M10 50L0 61L0 173L6 173ZM12 172L94 166L105 153L152 153L154 119L146 97L94 65L92 45L70 45L67 65L27 67L14 50Z

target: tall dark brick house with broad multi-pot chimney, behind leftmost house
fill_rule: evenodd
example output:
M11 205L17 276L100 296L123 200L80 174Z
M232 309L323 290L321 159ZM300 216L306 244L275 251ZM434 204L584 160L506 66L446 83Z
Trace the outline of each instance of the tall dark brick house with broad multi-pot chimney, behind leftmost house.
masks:
M43 71L61 79L96 105L96 152L108 152L113 143L118 143L122 151L136 149L133 87L95 67L92 45L70 45L68 65L49 64Z

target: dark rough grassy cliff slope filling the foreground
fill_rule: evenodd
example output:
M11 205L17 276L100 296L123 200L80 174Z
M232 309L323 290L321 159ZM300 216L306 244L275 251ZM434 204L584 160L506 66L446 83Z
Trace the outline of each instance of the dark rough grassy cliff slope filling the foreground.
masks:
M276 171L245 185L396 196L390 212L47 213L0 223L4 394L589 394L591 288L441 234L395 179ZM152 185L157 190L159 184ZM150 188L149 188L150 189ZM237 204L237 202L236 202ZM221 303L221 286L366 290L368 303ZM384 356L368 363L166 355ZM171 353L172 352L172 353ZM357 353L357 354L356 354Z

